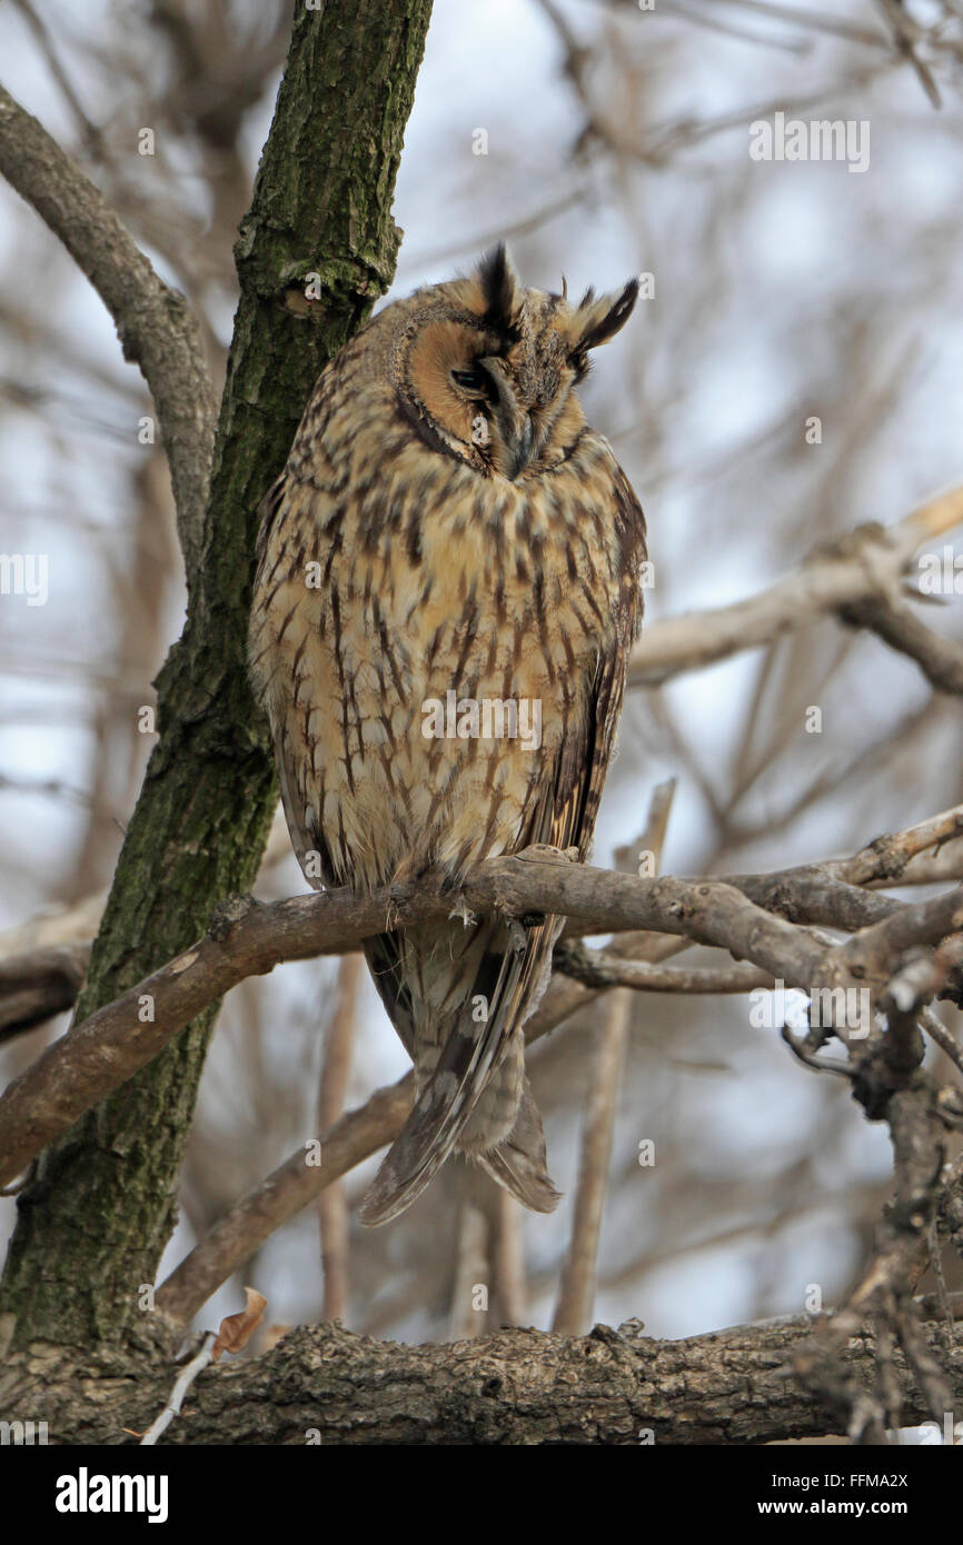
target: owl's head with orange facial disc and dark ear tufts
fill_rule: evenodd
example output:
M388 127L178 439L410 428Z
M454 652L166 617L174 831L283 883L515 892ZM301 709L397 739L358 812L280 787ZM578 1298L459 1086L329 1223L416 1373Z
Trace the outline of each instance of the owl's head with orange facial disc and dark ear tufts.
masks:
M573 388L589 351L631 315L638 281L615 294L524 289L504 246L470 278L417 290L394 312L391 375L433 450L512 480L556 465L584 425Z

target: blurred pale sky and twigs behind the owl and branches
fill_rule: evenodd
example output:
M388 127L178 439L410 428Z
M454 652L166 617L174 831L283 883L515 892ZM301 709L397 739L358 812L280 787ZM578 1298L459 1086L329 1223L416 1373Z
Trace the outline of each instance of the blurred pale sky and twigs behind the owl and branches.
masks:
M5 85L187 294L218 385L232 243L288 36L289 5L275 0L0 8ZM564 273L578 294L652 277L583 389L646 510L651 621L748 596L816 544L898 521L963 479L961 82L957 0L436 0L397 185L393 295L467 270L498 238L529 284L556 289ZM750 124L776 111L869 124L867 170L751 159ZM153 156L138 153L142 128ZM96 932L153 743L142 709L184 587L150 413L100 301L0 187L0 547L46 555L49 575L46 604L0 596L0 956ZM960 638L963 601L948 601L926 616ZM812 706L819 734L805 728ZM666 873L855 851L963 800L958 703L875 637L818 618L629 695L597 862L638 839L669 779ZM258 893L305 888L277 833ZM450 1165L408 1214L365 1231L351 1213L371 1160L323 1204L326 1270L311 1208L201 1323L236 1310L244 1281L275 1326L337 1313L402 1340L550 1326L611 1003L530 1052L566 1193L556 1214L522 1217ZM626 1004L597 1319L680 1336L832 1306L866 1255L889 1193L886 1128L750 1009L745 997ZM2 1046L3 1082L66 1023ZM283 966L232 992L161 1278L229 1204L405 1066L357 958ZM14 1205L0 1200L0 1238Z

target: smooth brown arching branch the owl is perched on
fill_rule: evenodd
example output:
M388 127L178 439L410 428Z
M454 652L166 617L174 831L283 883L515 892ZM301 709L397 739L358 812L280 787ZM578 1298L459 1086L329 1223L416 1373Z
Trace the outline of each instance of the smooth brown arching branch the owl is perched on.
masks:
M842 947L832 949L765 912L736 885L638 879L550 853L529 848L515 857L490 859L465 878L458 896L444 893L439 876L425 876L368 898L345 890L271 904L232 898L216 908L206 938L70 1031L9 1085L0 1098L0 1185L15 1179L83 1111L125 1083L196 1014L246 976L264 975L283 959L340 955L385 929L470 913L553 913L594 933L645 929L714 944L805 990L849 984ZM782 893L787 890L784 884ZM927 939L935 944L944 932L955 932L960 901L957 893L948 895L955 899L901 907L900 929L886 935L892 947ZM866 899L886 904L881 896Z

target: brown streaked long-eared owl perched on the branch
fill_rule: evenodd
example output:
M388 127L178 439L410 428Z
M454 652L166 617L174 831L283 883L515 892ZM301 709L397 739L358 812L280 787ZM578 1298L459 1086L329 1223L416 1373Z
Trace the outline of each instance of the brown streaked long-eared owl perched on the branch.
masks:
M526 289L499 246L386 306L322 372L263 501L249 657L301 868L359 895L433 873L453 896L448 921L386 915L365 944L416 1085L368 1224L451 1153L558 1202L524 1023L561 921L454 902L487 857L592 839L645 521L577 386L635 295Z

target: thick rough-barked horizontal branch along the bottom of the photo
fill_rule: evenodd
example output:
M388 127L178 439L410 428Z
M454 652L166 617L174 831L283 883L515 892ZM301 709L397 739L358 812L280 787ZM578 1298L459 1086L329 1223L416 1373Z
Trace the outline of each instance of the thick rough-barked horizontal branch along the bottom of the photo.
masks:
M407 1346L339 1324L300 1326L261 1357L215 1364L192 1384L170 1445L747 1445L839 1432L841 1412L793 1374L825 1315L657 1341L637 1321L587 1336L510 1329L495 1336ZM963 1344L927 1319L924 1346L963 1406ZM856 1389L872 1390L869 1326L838 1353ZM40 1374L8 1360L8 1409L36 1412L62 1445L116 1443L164 1407L172 1369L104 1369L62 1358ZM893 1369L906 1423L929 1412L904 1364ZM359 1411L365 1420L359 1424Z

